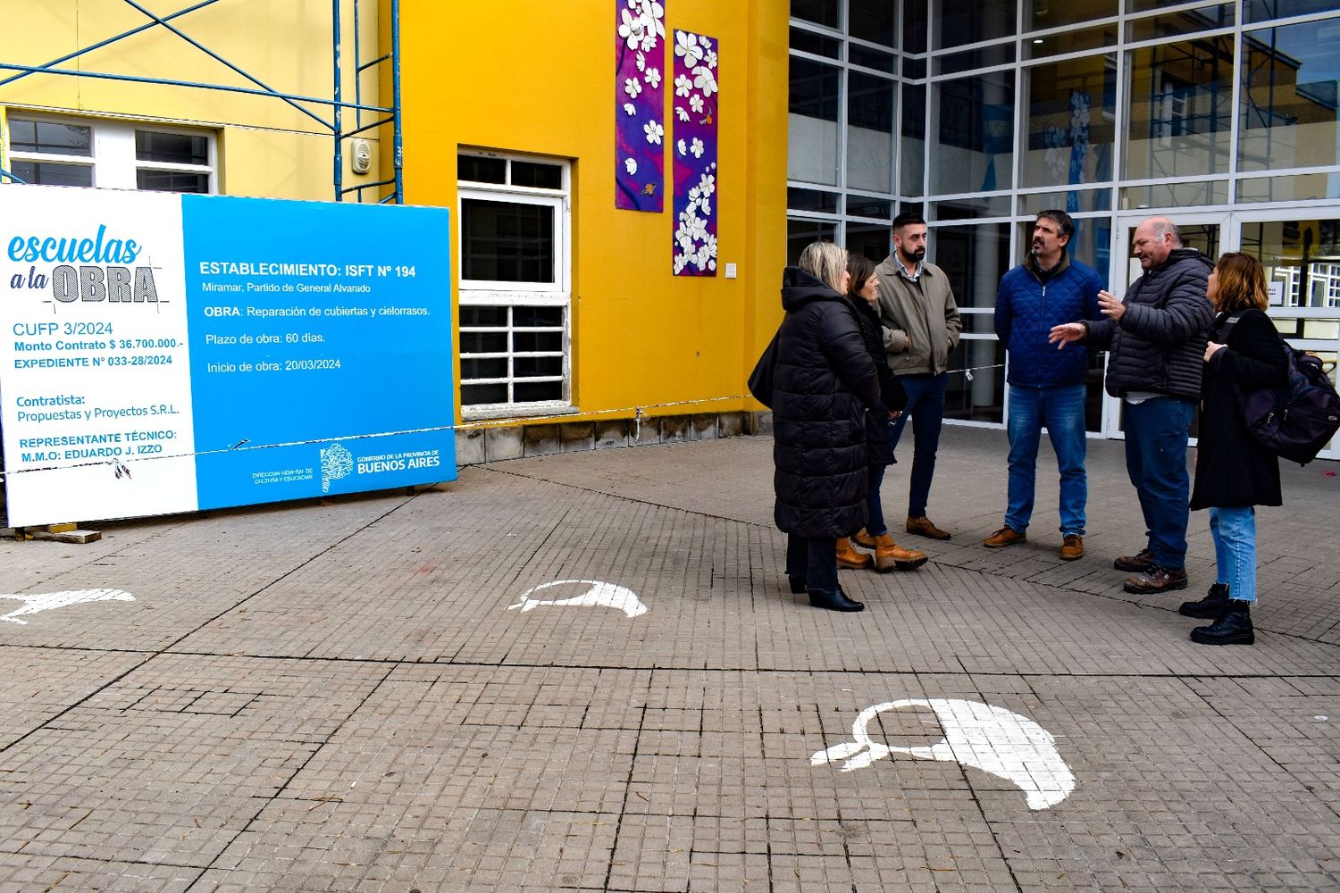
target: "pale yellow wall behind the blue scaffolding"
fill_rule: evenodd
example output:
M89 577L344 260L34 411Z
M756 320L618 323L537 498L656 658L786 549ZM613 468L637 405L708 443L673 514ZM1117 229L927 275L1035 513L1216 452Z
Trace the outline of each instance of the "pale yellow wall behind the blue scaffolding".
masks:
M363 43L360 55L366 62L381 52L378 7L386 4L385 0L359 1ZM141 0L141 5L166 16L190 4L181 0ZM342 0L340 11L344 36L343 98L352 102L356 67L352 0ZM0 21L4 23L0 25L0 63L42 66L146 24L149 19L119 0L0 0ZM220 0L174 19L172 25L273 90L316 99L332 98L330 3ZM161 25L59 67L259 88ZM389 68L386 72L389 82ZM16 72L0 70L0 80L13 74ZM379 103L378 74L373 70L363 75L366 104ZM0 87L0 104L8 106L11 115L16 110L28 110L208 127L218 134L221 193L334 198L335 150L330 129L272 96L66 75L29 75ZM332 120L330 106L304 107L324 120ZM352 112L346 111L343 129L352 129L351 122ZM364 137L373 145L374 174L352 174L346 150L346 186L381 179L375 174L378 133L368 131ZM368 201L375 198L371 191L367 194Z

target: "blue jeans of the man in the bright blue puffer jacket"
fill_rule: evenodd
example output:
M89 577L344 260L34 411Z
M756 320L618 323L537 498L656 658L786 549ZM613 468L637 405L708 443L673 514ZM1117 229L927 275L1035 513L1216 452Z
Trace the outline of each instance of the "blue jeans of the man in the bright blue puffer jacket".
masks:
M1084 386L1009 388L1009 505L1005 525L1024 533L1033 517L1033 482L1043 428L1061 473L1061 533L1084 536Z

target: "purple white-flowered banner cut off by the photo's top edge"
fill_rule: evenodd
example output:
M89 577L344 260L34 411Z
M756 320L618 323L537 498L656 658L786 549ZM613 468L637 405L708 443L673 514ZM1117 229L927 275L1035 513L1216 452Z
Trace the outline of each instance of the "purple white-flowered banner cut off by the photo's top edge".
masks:
M615 0L614 206L665 210L666 9L657 0Z

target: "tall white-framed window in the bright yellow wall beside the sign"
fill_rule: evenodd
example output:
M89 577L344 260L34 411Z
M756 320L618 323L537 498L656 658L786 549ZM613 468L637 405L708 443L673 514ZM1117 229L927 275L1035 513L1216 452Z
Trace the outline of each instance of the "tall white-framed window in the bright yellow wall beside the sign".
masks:
M570 165L470 151L457 165L461 411L570 410Z

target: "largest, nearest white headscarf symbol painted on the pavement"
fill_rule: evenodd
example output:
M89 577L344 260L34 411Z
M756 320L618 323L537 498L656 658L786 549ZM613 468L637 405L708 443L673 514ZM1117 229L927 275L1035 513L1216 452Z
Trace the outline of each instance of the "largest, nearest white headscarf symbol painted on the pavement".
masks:
M931 747L890 747L871 740L866 730L870 720L900 707L934 710L945 732L943 740ZM855 740L819 751L809 758L809 764L844 759L842 771L850 773L890 754L907 754L917 759L976 766L1014 783L1028 795L1029 809L1056 806L1075 790L1075 774L1056 751L1056 739L1049 731L1026 716L976 700L931 698L875 704L860 711L851 734Z

